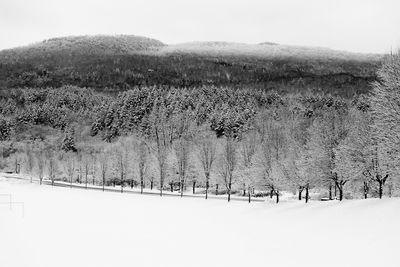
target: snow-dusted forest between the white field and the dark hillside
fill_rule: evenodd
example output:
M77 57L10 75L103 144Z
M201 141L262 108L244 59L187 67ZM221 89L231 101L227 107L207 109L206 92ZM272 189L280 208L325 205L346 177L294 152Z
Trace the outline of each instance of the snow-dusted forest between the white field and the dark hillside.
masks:
M202 85L0 94L1 168L40 181L299 200L399 193L400 57L368 94Z

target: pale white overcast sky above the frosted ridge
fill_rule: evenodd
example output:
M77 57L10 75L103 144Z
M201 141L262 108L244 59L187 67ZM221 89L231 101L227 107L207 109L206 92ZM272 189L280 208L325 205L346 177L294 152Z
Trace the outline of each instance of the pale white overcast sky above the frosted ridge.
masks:
M387 53L400 0L0 0L0 49L51 37L135 34L173 44L232 41Z

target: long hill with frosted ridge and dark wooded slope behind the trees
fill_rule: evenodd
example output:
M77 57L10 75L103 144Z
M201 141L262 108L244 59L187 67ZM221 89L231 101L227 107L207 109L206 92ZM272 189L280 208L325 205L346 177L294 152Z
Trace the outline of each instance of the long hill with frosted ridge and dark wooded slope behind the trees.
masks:
M0 88L215 85L351 97L368 91L382 58L268 42L165 45L128 35L64 37L0 51Z

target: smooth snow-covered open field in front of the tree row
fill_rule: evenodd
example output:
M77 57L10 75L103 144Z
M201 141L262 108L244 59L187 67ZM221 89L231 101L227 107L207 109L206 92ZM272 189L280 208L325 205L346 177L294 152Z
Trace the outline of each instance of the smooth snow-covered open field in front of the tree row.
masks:
M0 204L2 267L400 266L400 199L227 203L3 178L0 194L25 208Z

